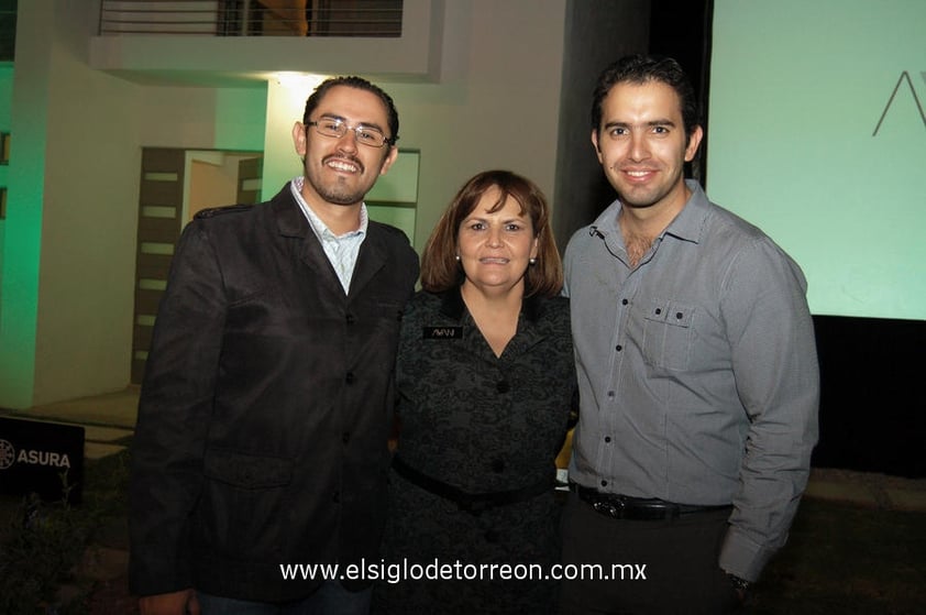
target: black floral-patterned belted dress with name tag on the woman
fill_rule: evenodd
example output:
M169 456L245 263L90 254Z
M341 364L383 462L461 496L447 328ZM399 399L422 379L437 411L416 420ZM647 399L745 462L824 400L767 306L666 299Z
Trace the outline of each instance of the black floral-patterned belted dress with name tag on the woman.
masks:
M466 494L530 495L461 506L394 466L383 553L393 576L376 586L374 612L554 612L556 583L543 578L560 557L552 485L575 391L567 299L526 299L499 358L459 289L419 293L396 369L405 466Z

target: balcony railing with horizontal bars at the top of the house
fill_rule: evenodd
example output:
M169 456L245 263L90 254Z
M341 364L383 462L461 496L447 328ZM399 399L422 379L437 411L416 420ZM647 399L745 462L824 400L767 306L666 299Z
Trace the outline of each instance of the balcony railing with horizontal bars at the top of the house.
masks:
M102 0L100 35L401 36L403 0Z

